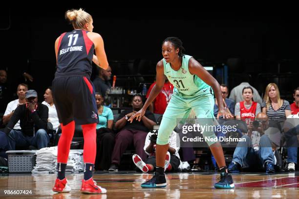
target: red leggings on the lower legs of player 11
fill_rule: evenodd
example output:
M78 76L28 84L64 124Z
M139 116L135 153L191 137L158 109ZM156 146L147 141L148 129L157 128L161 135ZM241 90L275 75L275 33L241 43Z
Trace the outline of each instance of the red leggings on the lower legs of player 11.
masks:
M62 134L58 142L57 162L67 163L70 144L74 136L75 122L71 121L66 125L60 124ZM96 157L96 123L82 125L84 137L83 159L85 163L94 164Z

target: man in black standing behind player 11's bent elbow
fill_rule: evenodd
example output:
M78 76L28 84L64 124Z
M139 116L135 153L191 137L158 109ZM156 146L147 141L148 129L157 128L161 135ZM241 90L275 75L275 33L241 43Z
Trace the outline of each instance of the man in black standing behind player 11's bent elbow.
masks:
M111 83L109 82L110 79L111 67L108 66L107 70L99 68L99 76L93 80L93 85L96 92L102 94L103 98L105 98L107 89L111 88Z

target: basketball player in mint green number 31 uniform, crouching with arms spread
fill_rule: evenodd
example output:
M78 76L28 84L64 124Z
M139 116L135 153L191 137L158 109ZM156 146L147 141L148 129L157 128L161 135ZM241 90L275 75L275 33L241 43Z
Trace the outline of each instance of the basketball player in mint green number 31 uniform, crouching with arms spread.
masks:
M163 59L156 66L156 85L152 88L148 100L140 111L131 116L139 121L144 116L149 104L156 98L163 88L165 79L173 84L173 94L161 121L156 142L156 172L152 179L141 184L143 188L158 188L166 186L164 162L169 148L169 138L177 125L176 120L186 118L193 109L198 119L213 125L214 94L218 102L219 116L233 117L224 109L222 93L219 83L194 58L184 55L182 41L175 37L167 38L162 44ZM204 124L203 124L204 125ZM216 138L213 131L203 131L203 136ZM205 139L206 140L206 139ZM220 168L221 179L215 183L215 188L234 188L232 176L227 173L223 150L219 142L207 142Z

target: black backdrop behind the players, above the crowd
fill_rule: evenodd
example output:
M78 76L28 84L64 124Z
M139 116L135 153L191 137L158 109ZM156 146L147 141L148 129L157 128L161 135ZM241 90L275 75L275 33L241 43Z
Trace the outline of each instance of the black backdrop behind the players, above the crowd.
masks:
M28 71L34 76L34 88L51 85L56 65L54 42L72 30L64 19L69 8L7 8L1 14L0 68L8 70L9 81ZM109 62L147 60L149 68L140 69L142 73L155 74L155 64L162 59L161 43L170 36L180 38L186 54L202 62L243 60L241 65L229 65L229 75L299 72L298 21L292 12L83 8L93 17L94 32L104 39Z

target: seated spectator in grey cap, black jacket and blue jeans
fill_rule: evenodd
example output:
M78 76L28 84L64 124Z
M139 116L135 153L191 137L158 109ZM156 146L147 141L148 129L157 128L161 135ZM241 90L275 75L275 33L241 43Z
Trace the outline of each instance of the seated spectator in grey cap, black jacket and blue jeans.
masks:
M9 120L4 133L8 135L8 149L15 150L16 146L33 145L38 149L47 147L48 107L38 103L37 92L28 90L25 94L26 103L19 105ZM20 120L21 130L13 127Z

